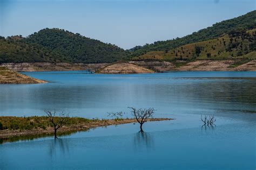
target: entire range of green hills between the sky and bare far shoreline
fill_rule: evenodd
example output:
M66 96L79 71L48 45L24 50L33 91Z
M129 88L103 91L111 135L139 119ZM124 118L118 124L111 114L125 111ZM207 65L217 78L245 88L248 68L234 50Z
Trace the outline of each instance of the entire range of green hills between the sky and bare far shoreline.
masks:
M157 41L130 50L62 29L30 36L1 37L0 63L112 63L119 60L255 59L256 11L216 23L183 38Z

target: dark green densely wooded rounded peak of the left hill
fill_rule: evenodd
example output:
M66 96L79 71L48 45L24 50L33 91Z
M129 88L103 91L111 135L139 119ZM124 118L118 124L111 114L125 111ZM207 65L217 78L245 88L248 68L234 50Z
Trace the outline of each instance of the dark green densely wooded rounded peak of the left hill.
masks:
M22 41L50 49L64 62L102 63L115 62L126 57L124 49L99 40L86 38L79 33L61 29L43 29Z

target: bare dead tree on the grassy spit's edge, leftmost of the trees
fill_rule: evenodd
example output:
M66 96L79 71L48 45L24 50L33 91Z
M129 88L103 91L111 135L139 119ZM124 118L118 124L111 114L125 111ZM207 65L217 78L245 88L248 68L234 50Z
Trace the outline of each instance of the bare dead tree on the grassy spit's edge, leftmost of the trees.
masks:
M56 114L56 110L53 112L45 110L44 111L46 115L49 117L50 122L53 125L54 128L54 138L57 137L57 130L59 128L62 128L64 125L68 123L69 120L69 114L65 114L64 112L60 112L58 115Z

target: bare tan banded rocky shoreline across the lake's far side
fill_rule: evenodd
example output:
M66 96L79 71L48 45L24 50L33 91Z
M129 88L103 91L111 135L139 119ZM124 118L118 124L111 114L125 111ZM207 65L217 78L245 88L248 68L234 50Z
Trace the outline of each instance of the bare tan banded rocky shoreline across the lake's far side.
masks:
M256 71L256 60L237 64L234 60L130 61L123 63L2 63L16 72L91 70L104 74L163 73L172 71Z

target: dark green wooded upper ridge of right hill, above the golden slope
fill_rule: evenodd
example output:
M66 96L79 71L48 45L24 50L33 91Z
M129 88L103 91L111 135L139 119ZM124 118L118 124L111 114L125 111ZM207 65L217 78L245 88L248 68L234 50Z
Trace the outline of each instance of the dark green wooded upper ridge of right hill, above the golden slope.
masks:
M251 30L256 26L256 10L246 13L246 15L224 20L223 22L213 24L206 29L194 32L183 38L176 38L173 40L157 41L153 44L147 44L143 47L137 46L131 49L131 56L140 56L151 51L169 51L182 45L191 44L193 42L200 42L210 40L223 36L224 34L233 30Z

